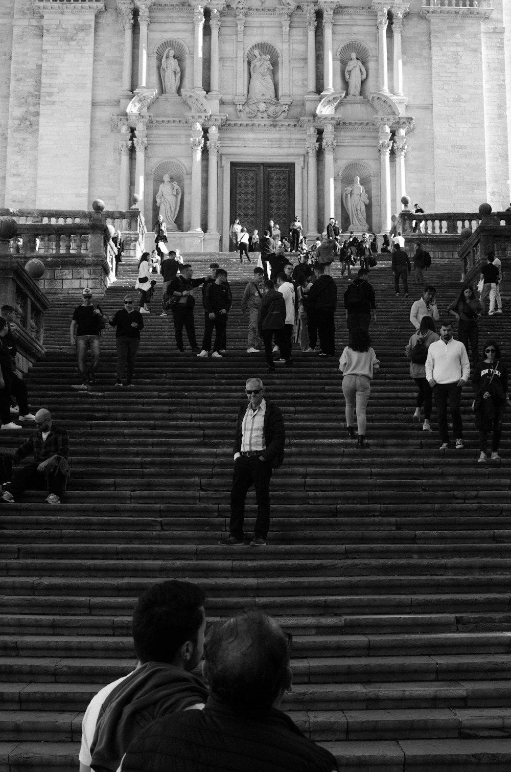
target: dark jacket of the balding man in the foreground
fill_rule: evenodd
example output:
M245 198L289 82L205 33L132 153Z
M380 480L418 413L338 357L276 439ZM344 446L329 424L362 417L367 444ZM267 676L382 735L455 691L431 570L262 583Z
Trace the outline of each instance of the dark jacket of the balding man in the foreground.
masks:
M337 761L276 708L235 709L211 696L148 726L123 772L334 772Z

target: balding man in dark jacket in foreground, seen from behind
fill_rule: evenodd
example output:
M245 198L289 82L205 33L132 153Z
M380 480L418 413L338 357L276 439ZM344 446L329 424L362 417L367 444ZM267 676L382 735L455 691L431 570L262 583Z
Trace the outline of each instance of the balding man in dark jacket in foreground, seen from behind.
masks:
M262 611L218 622L205 642L204 711L168 716L128 748L122 772L335 772L337 761L279 710L291 638Z

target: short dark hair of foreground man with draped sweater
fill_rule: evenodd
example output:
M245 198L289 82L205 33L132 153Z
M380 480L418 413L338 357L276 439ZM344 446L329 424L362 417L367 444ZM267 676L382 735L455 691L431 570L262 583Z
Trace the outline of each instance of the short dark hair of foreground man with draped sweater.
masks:
M185 642L195 643L204 604L204 590L189 581L162 581L140 595L132 624L139 661L171 664Z

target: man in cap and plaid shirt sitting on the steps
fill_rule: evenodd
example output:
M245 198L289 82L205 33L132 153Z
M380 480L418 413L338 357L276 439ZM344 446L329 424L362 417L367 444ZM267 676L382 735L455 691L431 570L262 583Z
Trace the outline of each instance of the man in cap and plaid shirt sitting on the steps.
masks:
M18 496L29 488L48 490L46 503L60 503L69 476L69 435L66 429L52 422L52 415L46 408L36 412L36 431L12 455L12 465L19 464L32 453L34 461L15 472L0 502L14 504Z

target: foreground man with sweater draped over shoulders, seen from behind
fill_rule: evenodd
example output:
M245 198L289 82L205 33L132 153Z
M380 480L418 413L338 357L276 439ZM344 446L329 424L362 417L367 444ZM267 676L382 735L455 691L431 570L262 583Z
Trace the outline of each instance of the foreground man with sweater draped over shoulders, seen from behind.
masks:
M201 661L205 594L188 581L154 584L133 614L137 668L104 686L82 721L80 772L115 772L131 740L161 716L202 709L208 690L191 671Z

